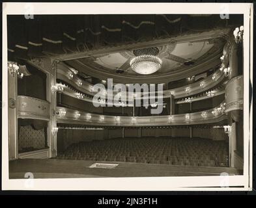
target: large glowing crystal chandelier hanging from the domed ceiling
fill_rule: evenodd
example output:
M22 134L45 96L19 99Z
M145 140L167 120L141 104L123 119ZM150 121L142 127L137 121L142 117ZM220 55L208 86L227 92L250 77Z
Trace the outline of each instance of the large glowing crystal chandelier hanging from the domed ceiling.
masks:
M158 71L162 60L154 55L139 55L130 61L130 66L134 72L147 75Z

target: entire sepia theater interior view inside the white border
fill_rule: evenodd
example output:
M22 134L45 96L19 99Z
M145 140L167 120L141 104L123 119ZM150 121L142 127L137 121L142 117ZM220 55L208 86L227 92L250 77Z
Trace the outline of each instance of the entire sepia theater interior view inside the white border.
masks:
M8 15L10 179L242 175L242 25Z

